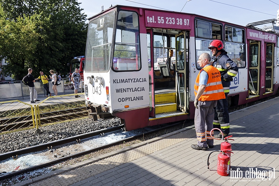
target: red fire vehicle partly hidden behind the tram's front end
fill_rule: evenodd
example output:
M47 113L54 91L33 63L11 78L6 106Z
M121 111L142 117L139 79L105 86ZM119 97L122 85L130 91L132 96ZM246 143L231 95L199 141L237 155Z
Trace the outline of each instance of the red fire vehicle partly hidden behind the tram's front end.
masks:
M84 58L84 55L82 56L78 56L78 57L74 57L72 60L71 60L71 63L70 63L70 76L69 78L72 78L72 73L75 71L76 68L78 68L78 72L80 73L80 76L81 76L81 89L84 88L84 82L83 82L83 69L84 69L84 61L85 61L85 58Z

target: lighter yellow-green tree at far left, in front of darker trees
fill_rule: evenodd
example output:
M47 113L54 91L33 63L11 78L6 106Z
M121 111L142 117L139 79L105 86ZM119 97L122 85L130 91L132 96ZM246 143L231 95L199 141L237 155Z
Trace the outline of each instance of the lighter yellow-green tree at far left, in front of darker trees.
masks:
M9 20L0 8L0 16L0 54L7 63L2 65L2 73L20 80L22 74L28 73L25 66L31 66L35 59L34 51L38 44L35 15Z

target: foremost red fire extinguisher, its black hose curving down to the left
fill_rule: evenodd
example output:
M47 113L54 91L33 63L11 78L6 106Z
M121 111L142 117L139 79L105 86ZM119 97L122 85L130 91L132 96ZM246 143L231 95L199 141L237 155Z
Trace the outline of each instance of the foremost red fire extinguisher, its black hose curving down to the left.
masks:
M209 157L214 152L220 152L218 154L218 161L217 161L217 173L221 176L227 176L230 172L230 158L231 156L228 153L233 153L232 149L224 149L224 150L215 150L209 153L207 157L207 169L209 169Z

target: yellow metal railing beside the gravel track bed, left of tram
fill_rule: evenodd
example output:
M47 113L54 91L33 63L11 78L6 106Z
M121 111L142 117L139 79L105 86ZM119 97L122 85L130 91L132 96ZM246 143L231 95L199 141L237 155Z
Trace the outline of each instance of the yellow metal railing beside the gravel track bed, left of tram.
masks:
M84 93L47 97L38 104L20 100L0 102L0 135L86 118ZM72 109L75 109L74 111Z

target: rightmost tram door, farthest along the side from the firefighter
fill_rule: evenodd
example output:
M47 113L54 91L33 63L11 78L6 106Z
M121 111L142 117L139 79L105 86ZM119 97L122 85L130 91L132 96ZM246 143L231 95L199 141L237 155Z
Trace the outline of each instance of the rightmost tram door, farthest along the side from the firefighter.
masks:
M273 88L273 63L274 63L274 43L266 45L266 70L265 70L265 93L271 92Z

